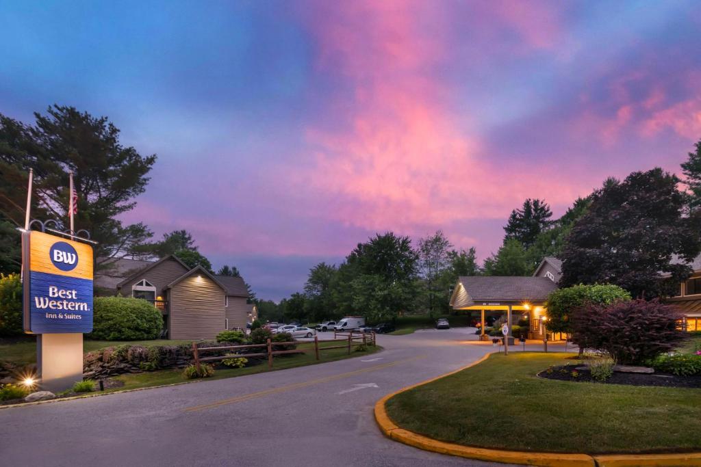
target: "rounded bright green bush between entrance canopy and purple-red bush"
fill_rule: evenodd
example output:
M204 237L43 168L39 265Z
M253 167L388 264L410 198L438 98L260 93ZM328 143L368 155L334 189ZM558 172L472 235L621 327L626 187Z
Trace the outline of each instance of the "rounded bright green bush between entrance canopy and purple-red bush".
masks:
M554 333L572 333L574 310L585 305L609 305L627 300L630 300L630 293L611 284L559 288L547 297L547 329Z

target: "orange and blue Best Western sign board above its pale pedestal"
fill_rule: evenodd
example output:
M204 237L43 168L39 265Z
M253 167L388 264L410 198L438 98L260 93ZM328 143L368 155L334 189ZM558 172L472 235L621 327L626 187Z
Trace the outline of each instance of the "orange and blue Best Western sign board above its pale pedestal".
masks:
M93 248L36 231L22 240L25 331L93 330Z

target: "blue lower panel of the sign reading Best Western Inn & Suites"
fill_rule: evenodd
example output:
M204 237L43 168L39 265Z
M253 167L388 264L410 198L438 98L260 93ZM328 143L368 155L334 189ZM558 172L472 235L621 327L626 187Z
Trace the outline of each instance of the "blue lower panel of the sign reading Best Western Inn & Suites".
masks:
M93 330L93 281L30 272L32 333L89 333Z

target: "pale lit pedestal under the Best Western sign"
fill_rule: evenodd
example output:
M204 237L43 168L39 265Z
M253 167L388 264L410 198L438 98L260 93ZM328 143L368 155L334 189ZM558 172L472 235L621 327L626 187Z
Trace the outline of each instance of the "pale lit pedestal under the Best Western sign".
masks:
M82 381L83 334L36 335L36 368L46 391L65 391Z

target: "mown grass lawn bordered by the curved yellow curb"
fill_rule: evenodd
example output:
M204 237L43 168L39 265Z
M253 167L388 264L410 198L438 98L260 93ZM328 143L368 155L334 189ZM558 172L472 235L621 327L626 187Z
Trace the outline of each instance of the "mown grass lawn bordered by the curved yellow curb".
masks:
M587 454L701 449L701 390L536 377L566 356L492 354L391 398L388 414L415 433L478 447Z

